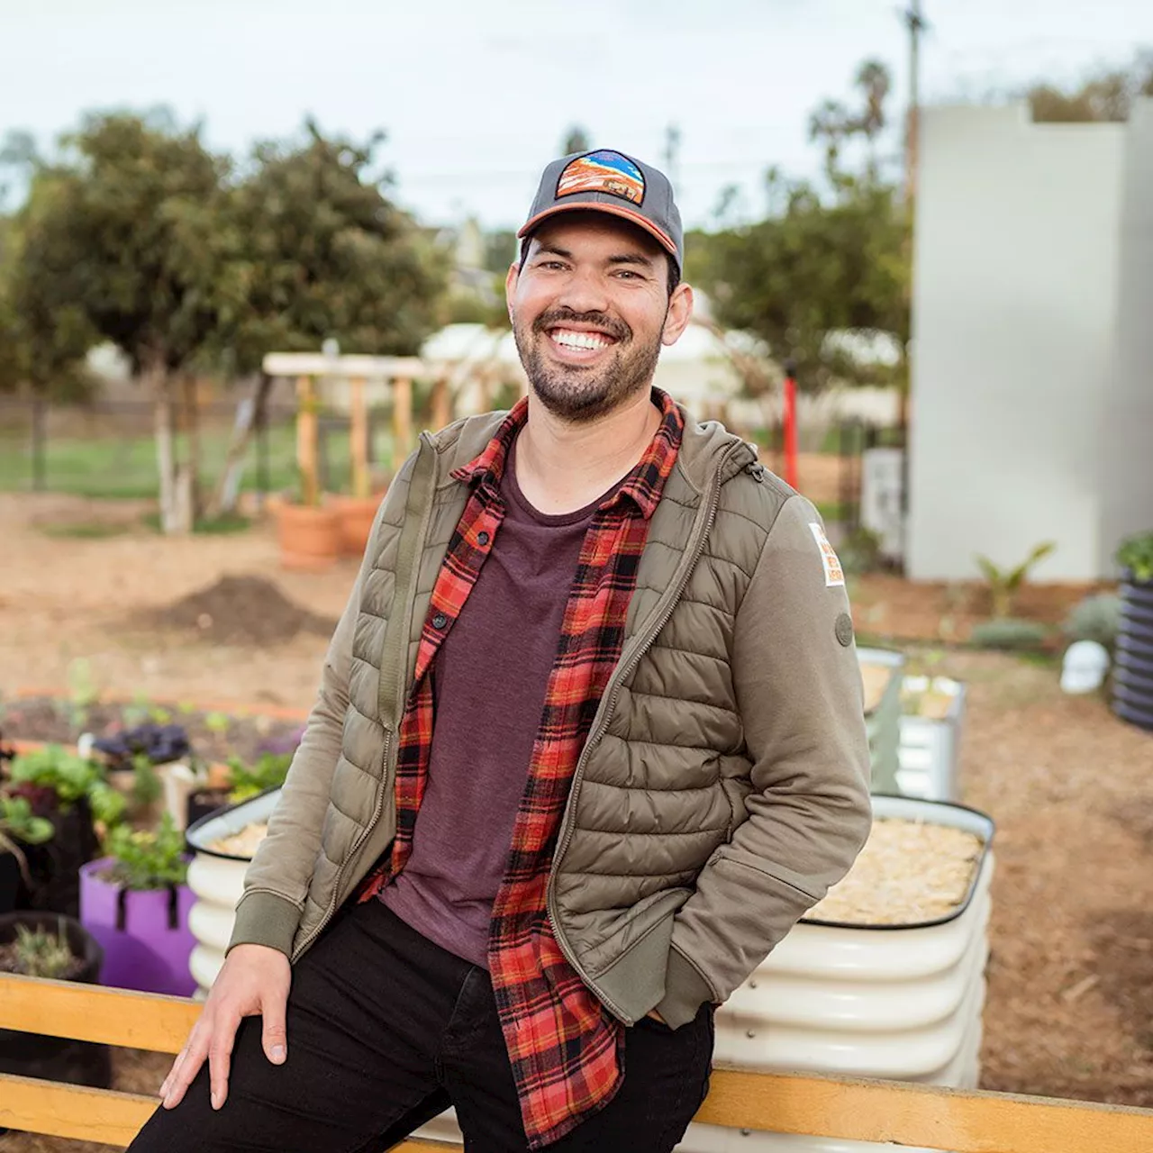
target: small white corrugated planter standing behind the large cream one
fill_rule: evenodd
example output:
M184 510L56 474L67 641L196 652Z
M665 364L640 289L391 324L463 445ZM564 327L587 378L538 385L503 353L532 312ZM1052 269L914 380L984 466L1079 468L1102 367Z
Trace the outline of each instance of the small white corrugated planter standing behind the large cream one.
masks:
M960 726L965 716L965 686L950 677L905 677L903 708L910 699L932 700L932 714L902 711L897 749L897 790L922 800L958 800Z

